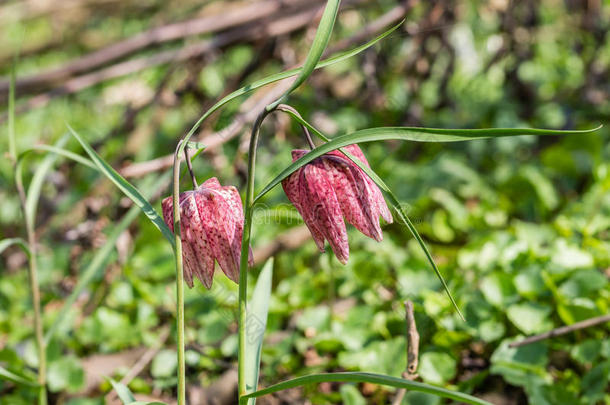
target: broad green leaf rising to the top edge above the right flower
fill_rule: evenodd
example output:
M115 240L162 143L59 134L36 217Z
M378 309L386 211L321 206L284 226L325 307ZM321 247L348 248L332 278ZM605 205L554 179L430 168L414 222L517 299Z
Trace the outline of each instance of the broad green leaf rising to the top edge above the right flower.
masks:
M326 2L326 8L324 8L324 13L322 14L322 18L320 19L320 24L318 25L318 29L316 31L316 36L311 44L311 48L309 48L309 53L307 54L307 58L305 59L305 63L303 63L303 67L299 72L296 80L292 83L292 85L278 98L275 102L269 104L267 106L267 111L273 110L277 107L278 104L282 102L290 93L296 90L311 73L316 68L316 65L320 61L322 57L322 53L326 46L328 45L328 41L330 40L330 35L333 32L333 27L335 26L335 20L337 19L337 12L339 11L339 3L340 0L328 0Z

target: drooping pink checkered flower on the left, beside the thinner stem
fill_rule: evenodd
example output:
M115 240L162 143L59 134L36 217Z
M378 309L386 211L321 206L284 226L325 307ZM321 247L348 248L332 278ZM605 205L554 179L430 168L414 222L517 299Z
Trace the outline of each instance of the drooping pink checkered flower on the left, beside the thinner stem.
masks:
M212 287L214 260L236 283L239 281L244 213L239 192L221 186L216 177L196 190L180 193L180 219L184 280L193 287L193 275L207 288ZM161 203L163 219L174 230L172 197ZM252 264L252 252L249 257Z

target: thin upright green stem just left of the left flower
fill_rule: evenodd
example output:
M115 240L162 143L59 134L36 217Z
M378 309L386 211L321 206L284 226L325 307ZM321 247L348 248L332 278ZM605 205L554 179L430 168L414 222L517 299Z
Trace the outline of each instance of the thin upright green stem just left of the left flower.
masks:
M186 368L184 365L184 273L182 271L182 240L180 239L180 146L178 143L174 154L174 238L176 248L176 333L178 335L178 405L186 404Z

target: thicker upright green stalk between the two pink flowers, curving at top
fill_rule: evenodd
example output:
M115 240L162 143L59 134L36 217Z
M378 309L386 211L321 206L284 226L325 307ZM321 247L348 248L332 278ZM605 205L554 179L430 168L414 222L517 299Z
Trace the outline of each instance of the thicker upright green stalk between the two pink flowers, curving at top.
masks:
M248 248L252 230L252 212L254 207L254 169L256 166L256 146L260 126L270 111L263 110L254 122L248 151L248 183L246 186L246 212L244 214L244 232L241 242L239 261L239 353L237 357L239 396L246 394L246 319L248 294ZM253 387L256 389L256 387Z

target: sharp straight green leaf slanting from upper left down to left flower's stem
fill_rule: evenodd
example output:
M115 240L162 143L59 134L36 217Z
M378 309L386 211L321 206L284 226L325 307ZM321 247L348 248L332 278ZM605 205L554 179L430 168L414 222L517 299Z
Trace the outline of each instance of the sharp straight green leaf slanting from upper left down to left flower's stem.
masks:
M134 202L144 214L152 221L152 223L161 231L165 239L169 241L172 247L175 248L174 234L169 227L163 221L163 218L157 213L152 205L148 202L142 193L138 191L131 183L129 183L123 176L121 176L116 170L112 168L104 159L102 159L95 150L78 134L70 125L68 129L72 135L80 142L85 152L89 155L93 163L97 166L100 172L102 172L110 181L112 181L127 197Z

